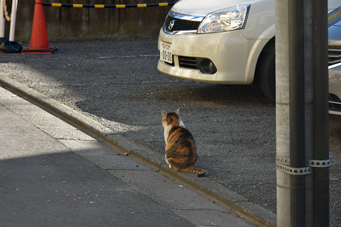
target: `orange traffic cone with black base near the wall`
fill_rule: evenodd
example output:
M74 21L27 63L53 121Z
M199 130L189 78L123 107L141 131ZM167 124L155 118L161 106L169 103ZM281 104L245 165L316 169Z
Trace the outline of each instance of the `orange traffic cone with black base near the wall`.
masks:
M23 50L23 54L53 54L58 51L57 48L51 48L48 45L45 16L43 10L43 1L36 0L33 15L32 35L30 47Z

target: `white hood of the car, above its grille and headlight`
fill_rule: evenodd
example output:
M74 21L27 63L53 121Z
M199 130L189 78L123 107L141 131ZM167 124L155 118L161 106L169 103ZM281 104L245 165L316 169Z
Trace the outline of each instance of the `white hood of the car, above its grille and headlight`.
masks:
M219 9L248 4L253 1L259 0L180 0L173 5L171 11L186 15L206 16Z

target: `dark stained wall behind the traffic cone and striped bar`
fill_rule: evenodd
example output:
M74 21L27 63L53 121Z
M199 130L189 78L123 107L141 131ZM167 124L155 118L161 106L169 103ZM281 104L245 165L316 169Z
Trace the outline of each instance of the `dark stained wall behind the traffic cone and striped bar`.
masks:
M176 1L176 0L171 0ZM43 0L55 3L137 4L167 0ZM10 13L11 0L6 0ZM19 0L15 40L30 41L35 0ZM171 6L143 8L74 8L43 6L49 41L154 38ZM5 36L9 22L5 23Z

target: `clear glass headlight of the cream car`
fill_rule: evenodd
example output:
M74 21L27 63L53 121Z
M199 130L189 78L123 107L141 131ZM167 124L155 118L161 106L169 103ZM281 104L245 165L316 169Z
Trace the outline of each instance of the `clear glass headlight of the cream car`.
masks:
M198 34L226 32L244 27L250 4L237 5L208 14L201 22Z

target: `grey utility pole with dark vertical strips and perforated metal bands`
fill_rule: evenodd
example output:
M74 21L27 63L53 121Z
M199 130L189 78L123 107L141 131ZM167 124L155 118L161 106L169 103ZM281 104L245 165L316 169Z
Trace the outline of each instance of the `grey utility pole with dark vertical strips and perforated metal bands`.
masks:
M326 0L276 0L277 226L329 226Z

